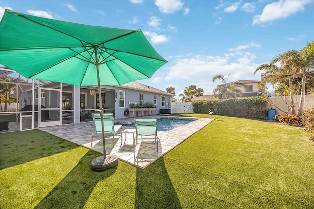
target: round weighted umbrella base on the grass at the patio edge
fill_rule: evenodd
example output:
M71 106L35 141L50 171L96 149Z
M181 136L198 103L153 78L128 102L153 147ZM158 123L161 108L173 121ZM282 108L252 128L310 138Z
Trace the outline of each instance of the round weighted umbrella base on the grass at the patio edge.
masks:
M107 158L104 159L104 156L96 157L91 162L91 169L93 171L105 171L109 168L117 166L119 163L118 156L107 155Z

